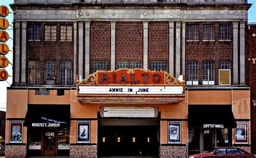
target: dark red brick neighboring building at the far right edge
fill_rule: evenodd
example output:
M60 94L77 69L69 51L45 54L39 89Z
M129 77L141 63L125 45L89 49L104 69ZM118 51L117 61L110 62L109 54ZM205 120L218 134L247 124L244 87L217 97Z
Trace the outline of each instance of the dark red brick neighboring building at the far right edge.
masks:
M251 87L252 152L256 153L256 24L248 25L248 71Z

